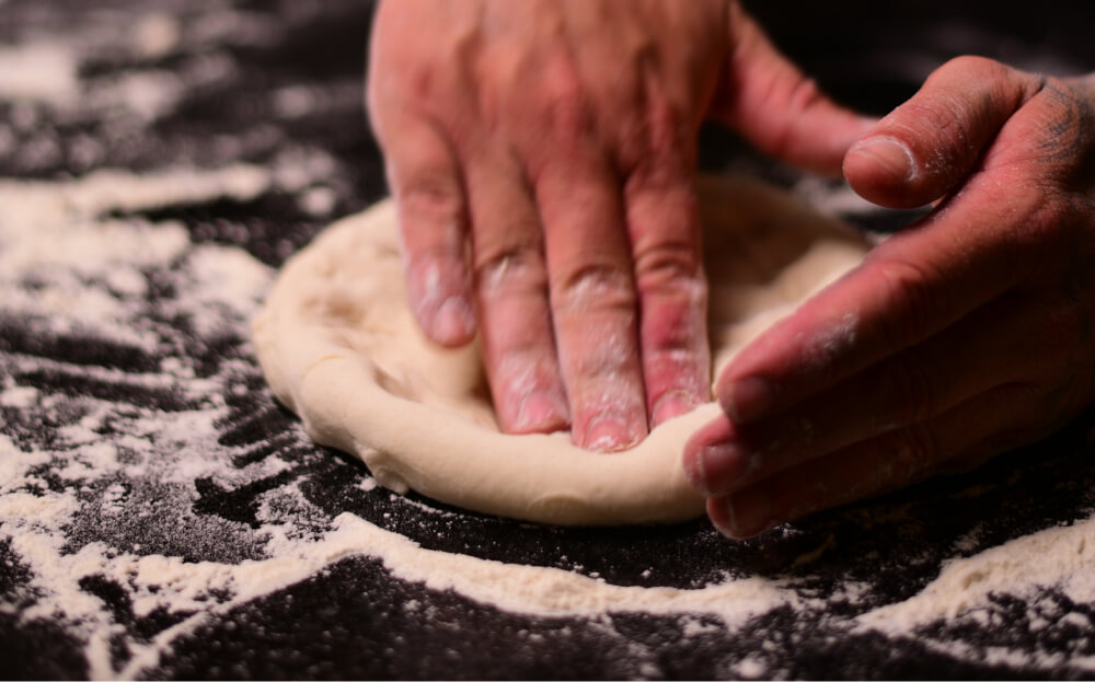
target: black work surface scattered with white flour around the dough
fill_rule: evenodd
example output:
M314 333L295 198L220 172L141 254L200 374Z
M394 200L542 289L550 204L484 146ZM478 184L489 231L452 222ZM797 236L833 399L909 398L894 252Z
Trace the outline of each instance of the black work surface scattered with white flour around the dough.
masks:
M1092 674L1083 420L749 542L466 513L311 444L247 322L382 194L362 10L187 4L0 5L51 69L0 82L5 677Z

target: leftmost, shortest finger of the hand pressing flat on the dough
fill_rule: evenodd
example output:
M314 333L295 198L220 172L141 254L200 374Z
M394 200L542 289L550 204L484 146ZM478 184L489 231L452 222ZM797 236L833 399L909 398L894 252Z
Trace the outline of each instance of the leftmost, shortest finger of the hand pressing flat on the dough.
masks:
M466 344L475 316L465 261L468 207L456 158L424 117L389 117L383 129L411 308L436 343Z

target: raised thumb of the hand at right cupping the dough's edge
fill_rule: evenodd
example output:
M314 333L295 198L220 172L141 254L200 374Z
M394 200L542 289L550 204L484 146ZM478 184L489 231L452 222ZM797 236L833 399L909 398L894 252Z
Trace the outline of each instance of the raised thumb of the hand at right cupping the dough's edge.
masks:
M844 175L866 199L912 208L954 189L1041 79L981 57L937 69L844 159Z

